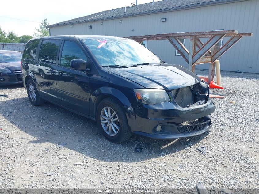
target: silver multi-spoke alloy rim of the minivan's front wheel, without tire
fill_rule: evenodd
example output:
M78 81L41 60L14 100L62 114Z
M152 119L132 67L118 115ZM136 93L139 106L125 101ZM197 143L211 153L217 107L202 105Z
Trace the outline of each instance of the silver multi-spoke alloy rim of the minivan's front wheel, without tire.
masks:
M109 106L101 111L101 125L103 130L110 136L115 136L119 132L120 122L116 112Z

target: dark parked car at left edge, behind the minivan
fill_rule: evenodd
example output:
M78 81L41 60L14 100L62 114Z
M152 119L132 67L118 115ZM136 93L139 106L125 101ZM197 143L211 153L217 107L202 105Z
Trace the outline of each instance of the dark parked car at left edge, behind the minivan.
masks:
M21 56L17 51L0 51L0 86L22 83Z

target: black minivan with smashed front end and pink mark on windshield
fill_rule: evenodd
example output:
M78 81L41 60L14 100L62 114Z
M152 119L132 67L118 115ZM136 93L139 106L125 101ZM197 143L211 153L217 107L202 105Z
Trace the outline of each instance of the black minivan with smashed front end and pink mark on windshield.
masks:
M199 135L211 128L209 87L120 37L47 36L27 43L22 80L32 105L49 101L96 120L111 141Z

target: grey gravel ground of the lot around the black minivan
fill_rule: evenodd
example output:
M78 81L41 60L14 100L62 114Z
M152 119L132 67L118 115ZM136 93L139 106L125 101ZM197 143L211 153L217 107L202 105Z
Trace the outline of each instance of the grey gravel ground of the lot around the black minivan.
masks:
M196 71L208 75L208 71ZM259 74L222 72L225 95L203 135L115 144L96 122L0 88L0 188L259 188ZM229 100L236 101L232 104ZM139 143L147 143L135 153ZM207 155L196 148L206 146Z

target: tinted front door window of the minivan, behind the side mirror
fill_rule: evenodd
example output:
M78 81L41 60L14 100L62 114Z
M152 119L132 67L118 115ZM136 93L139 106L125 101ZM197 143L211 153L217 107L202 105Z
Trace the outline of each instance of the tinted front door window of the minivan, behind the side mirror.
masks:
M77 44L74 42L65 41L61 54L61 65L70 67L70 61L73 59L83 59L87 62L86 55Z

